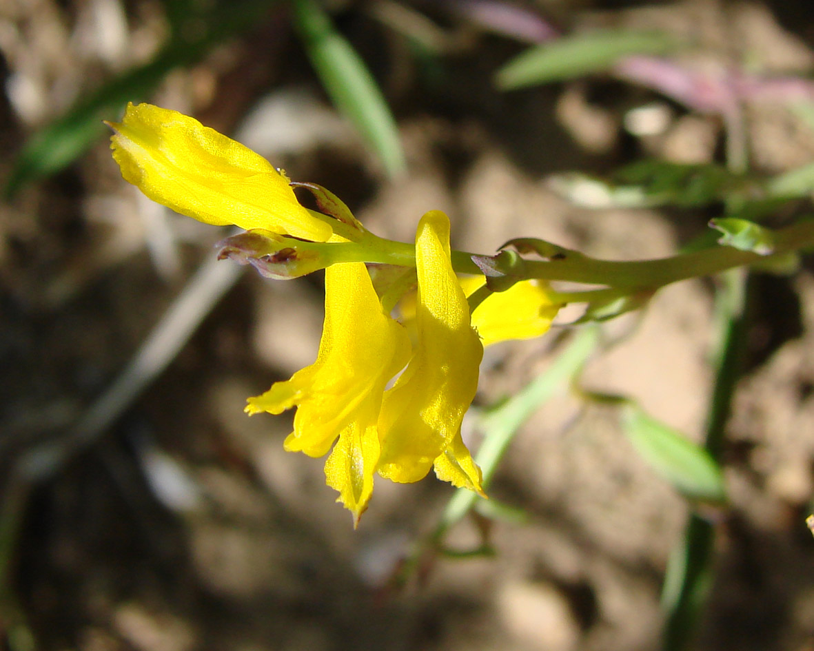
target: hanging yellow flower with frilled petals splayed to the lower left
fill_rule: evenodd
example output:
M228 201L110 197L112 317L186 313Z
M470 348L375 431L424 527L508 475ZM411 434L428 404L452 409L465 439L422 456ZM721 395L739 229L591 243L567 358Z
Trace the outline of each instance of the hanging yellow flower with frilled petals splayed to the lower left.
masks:
M325 272L325 325L313 365L249 398L246 411L282 413L297 406L291 452L322 457L327 483L353 513L367 508L379 462L377 421L389 380L409 359L404 329L382 311L365 264L334 264Z

